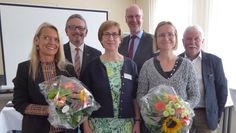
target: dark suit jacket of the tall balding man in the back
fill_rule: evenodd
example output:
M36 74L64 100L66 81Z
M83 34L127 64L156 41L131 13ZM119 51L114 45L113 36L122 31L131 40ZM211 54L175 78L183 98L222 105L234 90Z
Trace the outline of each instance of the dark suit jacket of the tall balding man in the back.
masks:
M119 52L126 57L128 57L129 41L130 41L130 36L126 36L125 38L123 38L119 47ZM138 72L142 68L143 63L154 56L152 43L153 43L152 35L143 32L138 48L133 58L134 62L137 64Z

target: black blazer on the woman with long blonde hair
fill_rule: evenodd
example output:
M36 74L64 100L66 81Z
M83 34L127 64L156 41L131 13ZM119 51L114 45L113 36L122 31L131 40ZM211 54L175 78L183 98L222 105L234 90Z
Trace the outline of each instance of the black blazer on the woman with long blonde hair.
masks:
M50 123L47 120L47 116L27 115L24 113L25 108L29 104L48 105L39 88L39 83L44 81L41 66L39 66L38 78L35 81L30 76L29 69L29 61L22 62L18 65L16 77L13 79L14 108L23 115L22 133L49 133ZM57 68L56 73L57 75L76 77L72 65L68 65L66 71L60 71Z

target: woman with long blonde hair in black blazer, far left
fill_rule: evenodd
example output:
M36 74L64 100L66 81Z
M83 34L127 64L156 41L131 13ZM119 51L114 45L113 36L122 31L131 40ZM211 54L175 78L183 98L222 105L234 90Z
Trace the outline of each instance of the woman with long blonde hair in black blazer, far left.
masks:
M33 38L30 59L18 65L13 79L13 104L23 115L23 133L75 132L52 127L47 120L48 104L38 84L57 75L76 77L74 67L65 62L57 28L43 23Z

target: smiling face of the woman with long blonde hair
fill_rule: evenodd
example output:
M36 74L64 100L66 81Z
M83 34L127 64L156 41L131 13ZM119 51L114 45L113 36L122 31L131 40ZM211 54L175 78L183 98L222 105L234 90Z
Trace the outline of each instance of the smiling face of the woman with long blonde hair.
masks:
M41 29L40 34L35 40L39 55L43 57L55 57L59 49L59 37L55 29L45 27Z

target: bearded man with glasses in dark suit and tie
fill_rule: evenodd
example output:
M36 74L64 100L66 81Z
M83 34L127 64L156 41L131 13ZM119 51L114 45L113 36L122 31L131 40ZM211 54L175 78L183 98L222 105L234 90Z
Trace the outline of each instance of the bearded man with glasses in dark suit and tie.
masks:
M69 42L64 44L64 53L68 61L75 65L76 48L79 48L80 72L78 77L83 75L86 65L101 55L101 52L84 43L84 38L88 33L85 19L79 14L71 15L66 21L65 32L69 38ZM78 133L83 132L78 129Z

